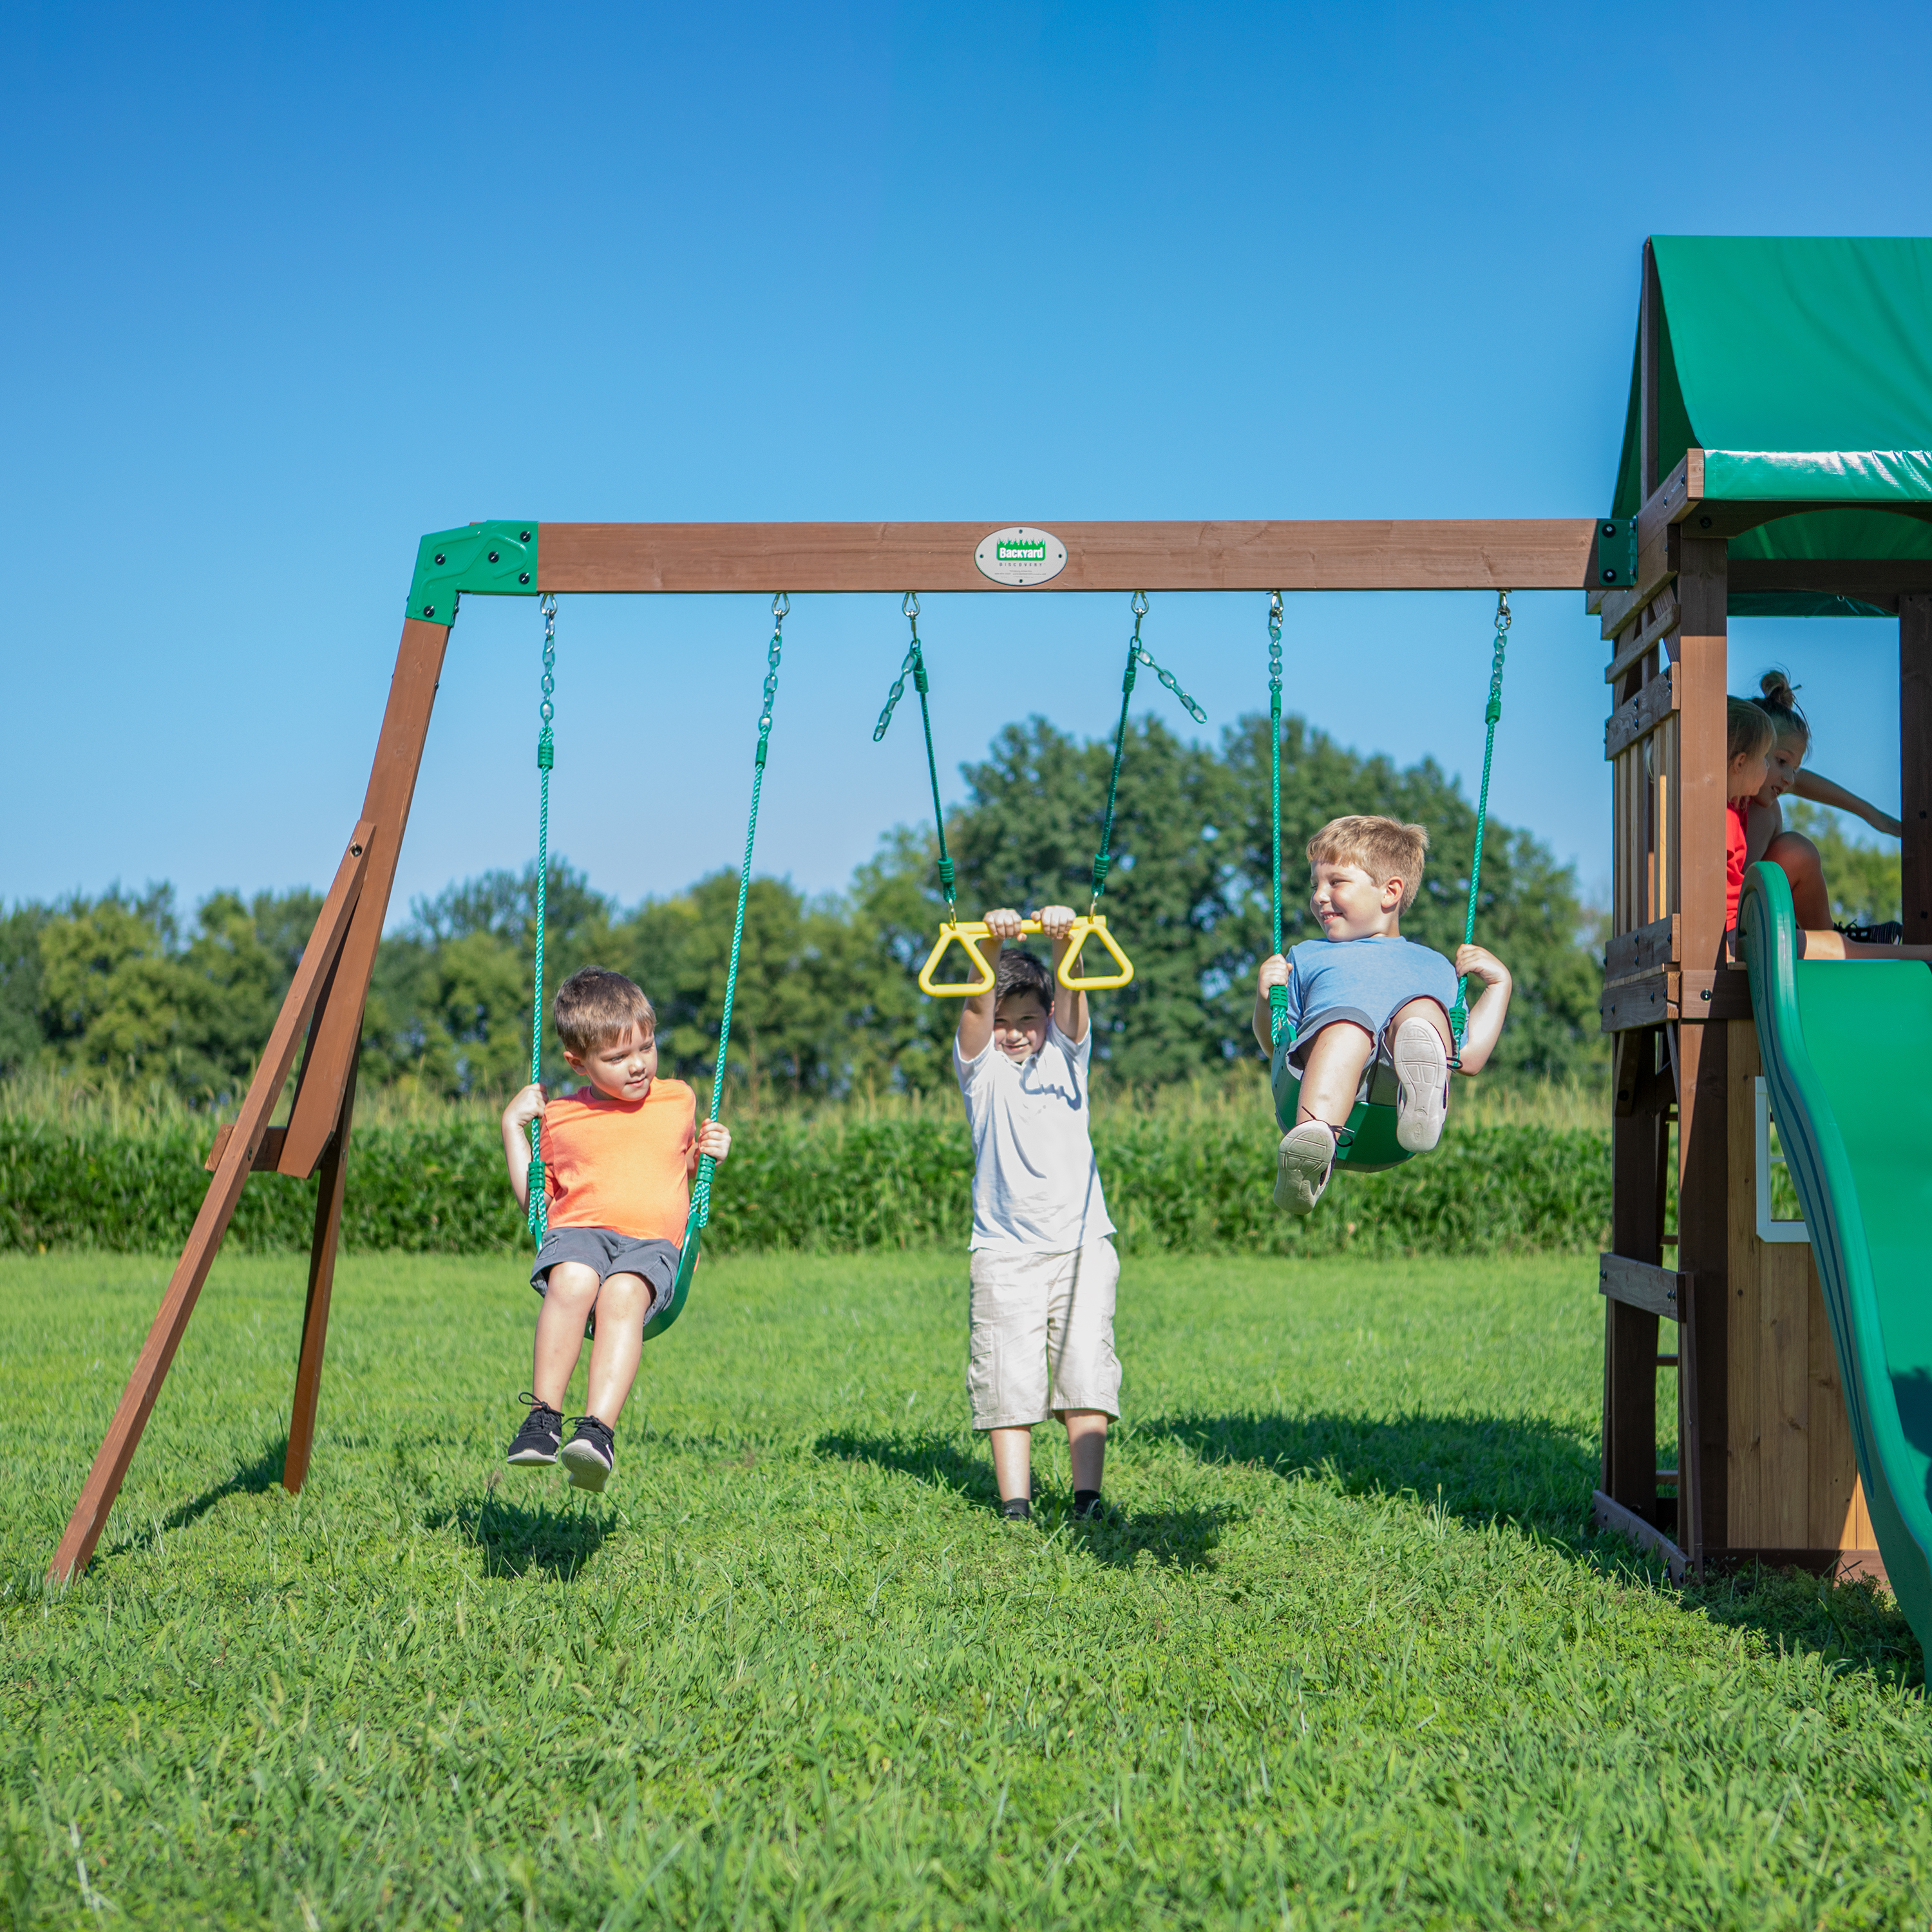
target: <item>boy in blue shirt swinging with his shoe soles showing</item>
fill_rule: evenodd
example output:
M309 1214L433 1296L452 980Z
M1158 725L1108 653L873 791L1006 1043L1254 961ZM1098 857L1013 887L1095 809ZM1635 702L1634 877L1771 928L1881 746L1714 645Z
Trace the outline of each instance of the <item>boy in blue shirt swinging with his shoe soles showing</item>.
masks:
M1275 1204L1310 1213L1335 1165L1335 1136L1368 1097L1376 1066L1393 1066L1395 1138L1424 1153L1441 1138L1455 1036L1457 978L1482 981L1463 1034L1461 1068L1480 1072L1509 1012L1509 968L1482 947L1455 964L1403 939L1401 918L1422 885L1430 835L1399 819L1329 819L1308 840L1321 939L1262 960L1254 1037L1271 1051L1267 991L1289 989L1289 1065L1302 1076L1294 1126L1281 1136Z

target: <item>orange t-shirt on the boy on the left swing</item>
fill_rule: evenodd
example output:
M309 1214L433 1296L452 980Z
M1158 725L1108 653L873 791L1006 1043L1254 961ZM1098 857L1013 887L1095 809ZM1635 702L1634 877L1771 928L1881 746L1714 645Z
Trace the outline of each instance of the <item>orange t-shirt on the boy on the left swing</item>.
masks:
M578 1088L543 1109L551 1227L609 1227L632 1240L684 1240L697 1095L653 1080L639 1101Z

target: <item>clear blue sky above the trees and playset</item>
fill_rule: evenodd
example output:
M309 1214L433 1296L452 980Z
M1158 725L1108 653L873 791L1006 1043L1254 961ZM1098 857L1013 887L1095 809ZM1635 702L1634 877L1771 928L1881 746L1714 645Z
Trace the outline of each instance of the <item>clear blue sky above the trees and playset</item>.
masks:
M425 529L1590 516L1648 232L1924 234L1924 10L10 10L0 898L319 883ZM1124 597L929 597L952 773L1097 734ZM736 864L769 618L566 599L554 842ZM920 817L896 599L798 597L761 869ZM1157 597L1211 728L1258 597ZM1289 703L1472 782L1490 605L1308 597ZM1897 800L1895 628L1735 624ZM471 599L392 916L522 866L539 620ZM1495 810L1607 873L1604 649L1517 599ZM1146 686L1169 723L1184 719ZM956 786L954 786L956 788ZM1337 800L1337 810L1347 810Z

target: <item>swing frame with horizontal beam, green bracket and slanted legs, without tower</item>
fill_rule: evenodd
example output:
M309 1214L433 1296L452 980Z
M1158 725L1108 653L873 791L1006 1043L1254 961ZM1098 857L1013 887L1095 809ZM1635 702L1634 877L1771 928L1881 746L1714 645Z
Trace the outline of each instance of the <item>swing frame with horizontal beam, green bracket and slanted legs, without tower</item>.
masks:
M1010 526L1018 527L1018 526ZM328 1296L355 1113L355 1057L377 941L429 734L458 597L777 591L1490 591L1577 589L1596 526L1542 522L1051 524L1065 562L1007 585L976 560L991 524L535 524L433 531L417 551L388 707L361 813L282 1001L247 1097L211 1153L214 1175L54 1553L79 1575L133 1461L162 1379L251 1173L317 1177L309 1293L282 1486L315 1447ZM296 1057L286 1126L270 1115Z

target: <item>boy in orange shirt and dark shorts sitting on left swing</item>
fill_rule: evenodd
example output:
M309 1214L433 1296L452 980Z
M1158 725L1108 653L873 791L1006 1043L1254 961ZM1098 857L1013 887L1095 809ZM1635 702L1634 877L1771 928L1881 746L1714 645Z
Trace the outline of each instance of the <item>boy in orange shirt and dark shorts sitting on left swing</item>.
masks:
M580 1490L601 1490L616 1463L612 1432L638 1379L645 1323L670 1302L678 1279L692 1175L709 1153L730 1153L721 1121L697 1126L697 1095L657 1078L657 1012L620 972L585 966L556 989L553 1007L564 1061L587 1088L545 1105L527 1086L502 1115L510 1192L529 1211L529 1122L543 1121L539 1153L549 1227L529 1285L543 1296L529 1414L510 1441L520 1468L562 1457ZM591 1339L587 1414L566 1443L562 1401Z

